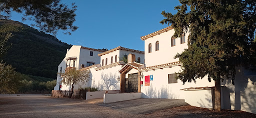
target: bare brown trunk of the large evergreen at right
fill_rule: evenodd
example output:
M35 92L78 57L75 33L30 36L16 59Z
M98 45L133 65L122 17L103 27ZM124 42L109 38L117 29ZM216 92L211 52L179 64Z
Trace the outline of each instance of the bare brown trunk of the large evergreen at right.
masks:
M217 111L221 110L221 96L220 96L220 78L215 80L215 90L214 90L214 109Z

